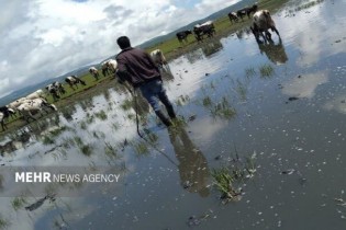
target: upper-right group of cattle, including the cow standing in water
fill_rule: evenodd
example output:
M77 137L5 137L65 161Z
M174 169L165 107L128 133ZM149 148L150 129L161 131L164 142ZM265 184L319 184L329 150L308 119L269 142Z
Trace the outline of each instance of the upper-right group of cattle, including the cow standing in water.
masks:
M244 21L244 16L247 15L250 19L253 14L253 22L250 25L250 31L255 35L255 38L258 43L261 41L259 37L263 37L263 42L271 39L271 34L269 28L277 33L280 37L278 30L276 28L275 22L270 16L268 10L258 10L258 5L254 4L252 7L243 8L236 12L230 12L228 19L231 23L237 23L239 20ZM188 42L189 35L194 35L197 42L203 42L204 36L212 37L215 34L215 26L212 21L204 22L202 24L197 24L192 30L181 31L176 34L180 44Z

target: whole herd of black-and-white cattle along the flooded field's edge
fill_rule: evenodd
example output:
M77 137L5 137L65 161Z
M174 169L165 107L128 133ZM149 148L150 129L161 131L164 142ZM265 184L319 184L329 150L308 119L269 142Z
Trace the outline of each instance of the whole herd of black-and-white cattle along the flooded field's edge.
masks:
M280 37L278 30L276 28L275 22L270 16L268 10L259 10L257 4L253 7L244 8L238 10L237 12L228 13L228 18L231 23L236 23L239 20L243 21L245 15L250 19L253 13L253 22L250 25L250 31L255 35L255 38L258 43L261 43L259 39L263 37L263 42L271 39L271 34L269 33L269 28L277 33ZM188 42L188 35L194 34L194 37L198 42L203 42L204 36L212 37L215 34L215 26L212 21L208 21L202 24L197 24L193 26L193 31L182 31L177 33L177 38L180 43ZM150 53L150 57L153 61L157 65L158 68L169 68L166 61L166 58L161 50L156 49ZM116 72L118 64L114 59L109 59L101 64L101 71L104 77L109 74L114 74ZM90 67L89 72L96 80L99 80L100 74L99 70L96 67ZM79 79L77 76L69 76L65 79L65 82L75 91L78 85L86 85L86 82ZM29 123L31 119L36 119L34 117L35 113L41 113L43 111L47 112L47 110L57 111L54 104L49 104L46 100L46 95L52 95L54 101L59 100L66 90L60 82L53 82L48 84L45 90L37 90L24 97L18 99L10 104L0 107L0 123L2 130L7 129L7 125L4 119L10 116L15 116L16 112L19 112L22 117Z

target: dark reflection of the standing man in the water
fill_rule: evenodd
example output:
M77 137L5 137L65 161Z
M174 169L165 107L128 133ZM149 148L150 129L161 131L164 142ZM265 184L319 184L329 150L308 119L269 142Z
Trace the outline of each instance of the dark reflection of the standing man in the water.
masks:
M191 193L199 193L200 196L207 197L209 169L204 156L194 147L182 128L170 130L169 138L179 161L181 186Z

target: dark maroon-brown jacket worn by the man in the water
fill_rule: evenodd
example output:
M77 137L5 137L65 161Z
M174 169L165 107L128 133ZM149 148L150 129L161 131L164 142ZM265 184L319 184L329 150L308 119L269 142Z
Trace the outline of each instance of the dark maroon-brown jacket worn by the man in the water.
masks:
M138 48L125 48L116 56L118 76L127 80L133 87L160 79L159 69L150 56Z

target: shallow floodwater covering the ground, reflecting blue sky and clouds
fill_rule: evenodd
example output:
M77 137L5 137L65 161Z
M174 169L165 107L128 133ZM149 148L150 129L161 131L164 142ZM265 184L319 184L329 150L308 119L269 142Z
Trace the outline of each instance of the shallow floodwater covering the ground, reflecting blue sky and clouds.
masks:
M306 2L274 14L281 42L244 30L169 62L165 85L186 120L174 131L138 99L141 139L131 94L110 88L1 137L0 227L345 229L346 2ZM212 172L248 159L254 173L224 202ZM45 184L18 185L19 166L120 177L62 184L40 202Z

